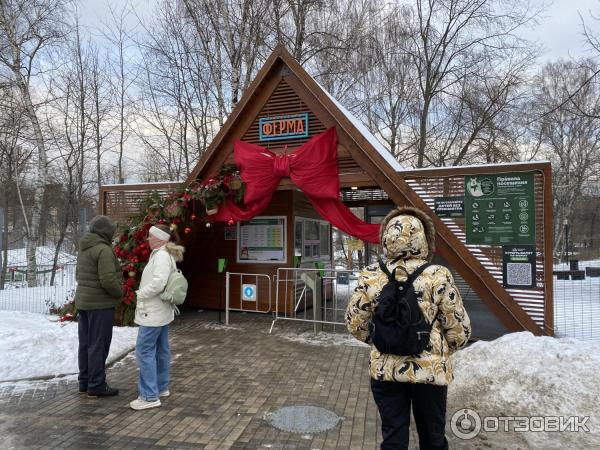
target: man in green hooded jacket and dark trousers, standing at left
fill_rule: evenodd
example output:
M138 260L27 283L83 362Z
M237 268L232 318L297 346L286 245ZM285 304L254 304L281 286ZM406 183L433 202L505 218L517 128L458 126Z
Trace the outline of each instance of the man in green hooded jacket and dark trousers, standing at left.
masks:
M117 224L96 216L79 241L75 305L79 313L79 393L117 395L106 383L105 364L112 340L115 306L123 297L122 272L111 241Z

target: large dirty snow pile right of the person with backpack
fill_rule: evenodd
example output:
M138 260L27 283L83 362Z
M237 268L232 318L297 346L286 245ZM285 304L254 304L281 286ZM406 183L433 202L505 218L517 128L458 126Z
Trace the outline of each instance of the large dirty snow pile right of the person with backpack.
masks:
M535 448L600 444L600 352L596 345L521 332L491 342L477 342L452 358L455 381L448 391L448 418L459 408L473 409L482 418L589 416L586 425L590 433L512 434L519 434L528 446ZM482 434L488 442L497 439L498 445L502 435L506 435Z

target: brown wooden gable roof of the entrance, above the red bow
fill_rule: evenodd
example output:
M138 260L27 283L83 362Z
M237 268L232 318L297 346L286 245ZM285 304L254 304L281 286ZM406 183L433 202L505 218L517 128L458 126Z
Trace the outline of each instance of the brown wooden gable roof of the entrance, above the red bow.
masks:
M258 120L262 116L289 112L309 114L309 136L304 140L259 142ZM373 142L330 95L283 48L278 46L269 56L244 96L231 112L197 166L187 179L190 183L218 172L233 160L233 143L244 140L260 144L272 151L284 145L290 151L312 135L335 126L338 133L338 163L340 185L370 186L383 189L396 205L412 205L427 212L437 233L438 252L462 276L479 297L510 331L528 330L534 334L551 334L542 330L515 302L481 262L431 211L427 204L405 182L402 172ZM280 187L291 187L291 180L282 180Z

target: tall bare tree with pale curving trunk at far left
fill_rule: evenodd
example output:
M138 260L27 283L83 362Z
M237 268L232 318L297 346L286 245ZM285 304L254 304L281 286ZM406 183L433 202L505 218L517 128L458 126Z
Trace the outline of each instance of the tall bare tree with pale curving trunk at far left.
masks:
M44 191L48 178L46 141L33 101L32 77L43 51L63 36L63 0L0 1L0 64L8 68L10 82L17 87L25 115L33 131L36 148L33 173L34 201L27 239L27 282L36 285L36 248Z

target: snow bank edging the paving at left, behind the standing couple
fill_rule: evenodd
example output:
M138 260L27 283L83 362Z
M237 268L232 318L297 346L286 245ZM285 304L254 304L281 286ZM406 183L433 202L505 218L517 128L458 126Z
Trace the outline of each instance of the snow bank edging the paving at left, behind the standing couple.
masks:
M137 327L115 327L108 362L135 347ZM0 381L78 372L77 323L29 312L0 311Z

